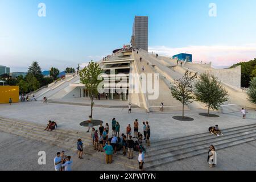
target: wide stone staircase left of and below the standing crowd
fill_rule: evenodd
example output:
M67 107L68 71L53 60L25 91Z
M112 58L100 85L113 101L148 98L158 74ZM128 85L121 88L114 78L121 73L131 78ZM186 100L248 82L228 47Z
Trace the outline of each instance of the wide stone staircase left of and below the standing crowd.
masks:
M59 127L59 126L58 126ZM13 119L0 118L0 131L11 133L20 137L38 140L53 146L58 146L71 151L77 151L77 139L81 138L84 143L85 154L92 155L104 161L104 152L94 150L90 134L76 130L57 129L55 131L44 131L46 126L36 123L15 121ZM135 170L138 168L137 153L134 152L134 159L129 160L121 154L114 155L114 163L121 164L124 169Z

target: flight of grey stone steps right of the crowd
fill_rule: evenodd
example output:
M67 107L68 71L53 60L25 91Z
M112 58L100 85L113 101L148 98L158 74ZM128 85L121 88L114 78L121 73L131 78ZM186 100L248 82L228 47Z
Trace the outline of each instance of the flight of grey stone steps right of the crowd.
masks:
M151 147L146 148L144 167L154 170L177 160L207 154L210 144L218 151L256 140L256 123L221 131L224 135L220 137L207 132L175 139L155 140L151 142Z

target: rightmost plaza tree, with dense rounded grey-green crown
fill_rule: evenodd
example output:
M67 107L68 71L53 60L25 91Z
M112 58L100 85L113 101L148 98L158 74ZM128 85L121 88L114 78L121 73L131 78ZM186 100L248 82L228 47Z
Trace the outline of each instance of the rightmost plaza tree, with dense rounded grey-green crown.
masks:
M209 73L202 73L199 80L195 84L196 101L207 104L208 116L210 109L218 109L220 105L228 101L228 92L223 88L217 77L209 75Z

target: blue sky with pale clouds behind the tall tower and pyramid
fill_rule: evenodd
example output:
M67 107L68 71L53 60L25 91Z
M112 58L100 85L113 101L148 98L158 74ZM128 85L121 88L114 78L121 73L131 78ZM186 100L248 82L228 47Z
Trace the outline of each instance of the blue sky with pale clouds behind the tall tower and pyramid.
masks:
M38 16L39 3L46 16ZM38 61L63 71L98 61L129 44L134 16L146 15L150 52L229 66L256 57L255 7L255 0L0 0L0 65L26 72Z

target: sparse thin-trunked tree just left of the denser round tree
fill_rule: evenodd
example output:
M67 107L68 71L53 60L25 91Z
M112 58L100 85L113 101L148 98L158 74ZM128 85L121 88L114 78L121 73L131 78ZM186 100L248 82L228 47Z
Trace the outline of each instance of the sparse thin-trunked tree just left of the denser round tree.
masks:
M182 117L184 118L184 105L192 103L195 97L193 96L193 82L197 77L197 73L189 71L185 72L185 75L179 80L175 80L172 86L172 97L182 103Z

